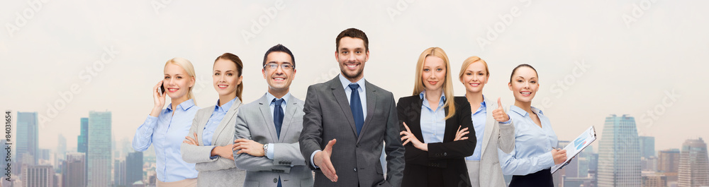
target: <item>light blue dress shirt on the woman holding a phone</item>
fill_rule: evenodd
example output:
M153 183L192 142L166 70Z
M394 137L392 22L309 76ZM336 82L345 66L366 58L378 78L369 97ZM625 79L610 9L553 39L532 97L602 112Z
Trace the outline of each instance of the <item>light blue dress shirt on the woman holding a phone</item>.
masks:
M172 110L172 104L157 117L147 116L133 137L133 149L143 152L152 144L157 157L157 179L163 182L197 178L194 164L184 162L180 145L192 126L194 114L200 108L188 99Z

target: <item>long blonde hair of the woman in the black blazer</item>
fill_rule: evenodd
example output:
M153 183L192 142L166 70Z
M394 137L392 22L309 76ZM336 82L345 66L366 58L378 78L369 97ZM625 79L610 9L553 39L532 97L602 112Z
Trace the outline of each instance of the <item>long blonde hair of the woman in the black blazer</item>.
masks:
M448 114L445 119L450 119L455 114L455 98L453 96L453 83L450 76L450 61L448 61L448 55L443 52L443 49L439 47L430 47L425 49L420 56L418 56L418 64L416 64L416 76L415 83L413 84L413 95L419 95L423 90L425 90L425 85L423 85L423 61L425 61L428 56L436 56L443 59L445 63L445 80L443 80L443 95L445 95L445 104L443 107L448 109Z

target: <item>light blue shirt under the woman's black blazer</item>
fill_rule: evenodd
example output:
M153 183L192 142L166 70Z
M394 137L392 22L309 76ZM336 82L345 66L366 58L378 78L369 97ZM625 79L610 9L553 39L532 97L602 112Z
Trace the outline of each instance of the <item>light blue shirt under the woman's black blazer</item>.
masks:
M442 143L443 135L445 134L445 95L441 92L441 97L438 99L436 109L431 109L428 99L425 97L424 90L418 96L423 99L421 105L421 135L423 135L423 143Z

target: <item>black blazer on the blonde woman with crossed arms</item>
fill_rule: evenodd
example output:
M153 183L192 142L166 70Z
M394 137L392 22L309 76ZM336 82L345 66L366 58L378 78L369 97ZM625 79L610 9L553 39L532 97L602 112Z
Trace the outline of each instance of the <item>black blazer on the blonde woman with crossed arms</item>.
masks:
M473 155L476 138L470 113L470 104L465 97L454 97L455 114L445 121L443 143L428 143L428 152L406 147L406 167L401 186L471 186L465 157ZM421 106L419 95L401 97L396 104L399 126L406 131L402 122L411 129L418 140L425 143L421 134ZM445 110L446 115L448 109ZM468 128L467 140L453 141L458 127Z

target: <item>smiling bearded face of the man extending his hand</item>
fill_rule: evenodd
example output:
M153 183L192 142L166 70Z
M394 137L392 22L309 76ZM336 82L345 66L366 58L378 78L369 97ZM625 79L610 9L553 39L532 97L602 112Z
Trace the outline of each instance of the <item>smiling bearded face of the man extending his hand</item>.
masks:
M364 40L354 37L342 37L340 47L335 52L340 64L340 72L347 80L356 82L362 79L364 63L369 60L369 51L364 48Z

